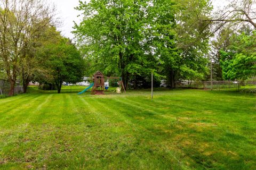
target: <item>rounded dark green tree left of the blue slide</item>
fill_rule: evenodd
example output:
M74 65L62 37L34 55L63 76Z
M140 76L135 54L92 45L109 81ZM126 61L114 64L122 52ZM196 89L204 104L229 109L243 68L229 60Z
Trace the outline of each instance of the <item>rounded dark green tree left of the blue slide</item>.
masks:
M38 56L42 60L45 70L52 75L52 80L44 80L55 83L58 93L61 92L62 83L76 83L82 81L84 76L84 60L74 44L67 38L61 38L57 44L44 46Z

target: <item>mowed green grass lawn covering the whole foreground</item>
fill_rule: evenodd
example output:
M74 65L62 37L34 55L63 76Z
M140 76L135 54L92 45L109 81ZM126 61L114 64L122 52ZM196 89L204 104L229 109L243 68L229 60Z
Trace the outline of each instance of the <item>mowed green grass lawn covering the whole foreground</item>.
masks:
M0 169L256 169L255 95L154 95L0 99Z

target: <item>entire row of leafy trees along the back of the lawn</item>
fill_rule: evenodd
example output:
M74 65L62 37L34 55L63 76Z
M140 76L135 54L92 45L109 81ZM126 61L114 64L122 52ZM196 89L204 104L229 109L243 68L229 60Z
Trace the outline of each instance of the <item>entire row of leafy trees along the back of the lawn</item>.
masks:
M56 30L54 6L39 0L1 0L0 66L14 94L30 81L75 83L100 70L122 77L125 88L162 79L255 78L255 0L231 1L212 13L210 0L98 0L79 2L76 43ZM159 85L159 84L158 84Z

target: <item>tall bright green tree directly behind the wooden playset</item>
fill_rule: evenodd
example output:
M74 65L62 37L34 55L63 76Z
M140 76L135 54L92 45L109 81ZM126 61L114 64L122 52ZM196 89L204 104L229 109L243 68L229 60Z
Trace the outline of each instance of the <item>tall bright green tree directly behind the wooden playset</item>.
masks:
M91 1L80 3L83 21L75 25L76 37L86 58L105 70L121 75L125 88L129 77L143 65L142 50L147 1Z

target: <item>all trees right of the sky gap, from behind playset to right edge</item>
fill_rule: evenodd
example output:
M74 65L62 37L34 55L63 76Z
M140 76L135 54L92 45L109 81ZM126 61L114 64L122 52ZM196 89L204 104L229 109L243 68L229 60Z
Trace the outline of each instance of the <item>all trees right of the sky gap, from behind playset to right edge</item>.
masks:
M207 0L80 2L83 21L74 33L87 67L121 75L126 88L149 84L151 72L170 88L207 80L211 60L215 80L243 81L255 77L255 5L231 1L212 14ZM232 43L223 46L227 31Z

